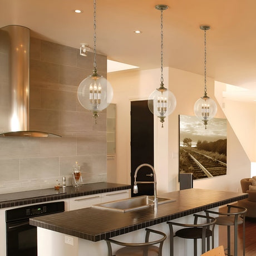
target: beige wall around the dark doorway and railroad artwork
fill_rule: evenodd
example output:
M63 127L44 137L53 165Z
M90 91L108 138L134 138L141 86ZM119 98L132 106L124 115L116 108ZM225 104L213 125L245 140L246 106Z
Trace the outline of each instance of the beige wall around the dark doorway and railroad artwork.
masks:
M160 70L125 71L108 75L114 88L113 102L117 103L117 182L130 183L130 100L147 99L159 87ZM166 120L164 128L155 124L155 169L157 190L179 189L179 115L194 115L196 100L203 96L204 77L195 73L164 68L166 87L174 93L177 107ZM214 98L214 81L208 78L208 95ZM216 100L215 100L216 101ZM218 106L216 117L225 118ZM167 141L167 142L166 142ZM227 175L194 181L194 188L240 191L240 179L250 175L250 161L228 124Z

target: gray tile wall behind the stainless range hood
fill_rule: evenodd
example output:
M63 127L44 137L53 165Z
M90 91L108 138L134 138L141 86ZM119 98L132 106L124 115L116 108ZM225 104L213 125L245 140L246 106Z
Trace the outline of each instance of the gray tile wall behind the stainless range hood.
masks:
M107 58L97 55L98 70L106 77ZM0 138L0 194L53 188L72 166L81 165L83 183L107 181L106 111L97 125L92 113L77 101L79 83L93 70L93 54L31 38L30 130L62 137Z

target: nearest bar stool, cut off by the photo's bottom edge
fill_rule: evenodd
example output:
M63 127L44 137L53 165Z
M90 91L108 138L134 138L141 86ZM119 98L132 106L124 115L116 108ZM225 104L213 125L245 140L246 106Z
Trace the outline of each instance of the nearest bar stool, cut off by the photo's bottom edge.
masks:
M145 243L124 243L113 239L105 239L107 242L107 248L109 250L109 256L112 256L111 243L124 246L117 250L115 256L162 256L162 248L166 234L157 230L146 228ZM159 234L162 236L161 239L149 242L150 233ZM159 247L155 246L159 244Z

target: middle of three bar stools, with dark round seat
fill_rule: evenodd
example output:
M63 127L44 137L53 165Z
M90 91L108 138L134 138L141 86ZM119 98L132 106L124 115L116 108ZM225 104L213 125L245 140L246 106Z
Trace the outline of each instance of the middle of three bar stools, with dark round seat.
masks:
M211 237L211 248L214 248L214 225L216 219L211 216L194 214L194 224L182 224L168 221L170 228L170 256L174 256L174 237L194 239L194 256L197 255L197 239L201 239L201 253L205 253L205 238ZM198 224L198 218L206 219L206 223ZM186 227L173 232L173 225ZM210 226L212 229L210 230ZM207 239L207 250L210 249L210 240Z

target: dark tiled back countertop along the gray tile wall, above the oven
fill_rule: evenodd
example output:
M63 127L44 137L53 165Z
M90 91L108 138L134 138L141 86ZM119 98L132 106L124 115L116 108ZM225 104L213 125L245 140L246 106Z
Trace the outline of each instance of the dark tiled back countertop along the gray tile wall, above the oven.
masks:
M52 188L1 194L0 208L42 203L46 201L74 198L76 196L106 193L130 188L130 185L101 182L83 184L78 188L67 186L66 188L60 188L59 190Z

